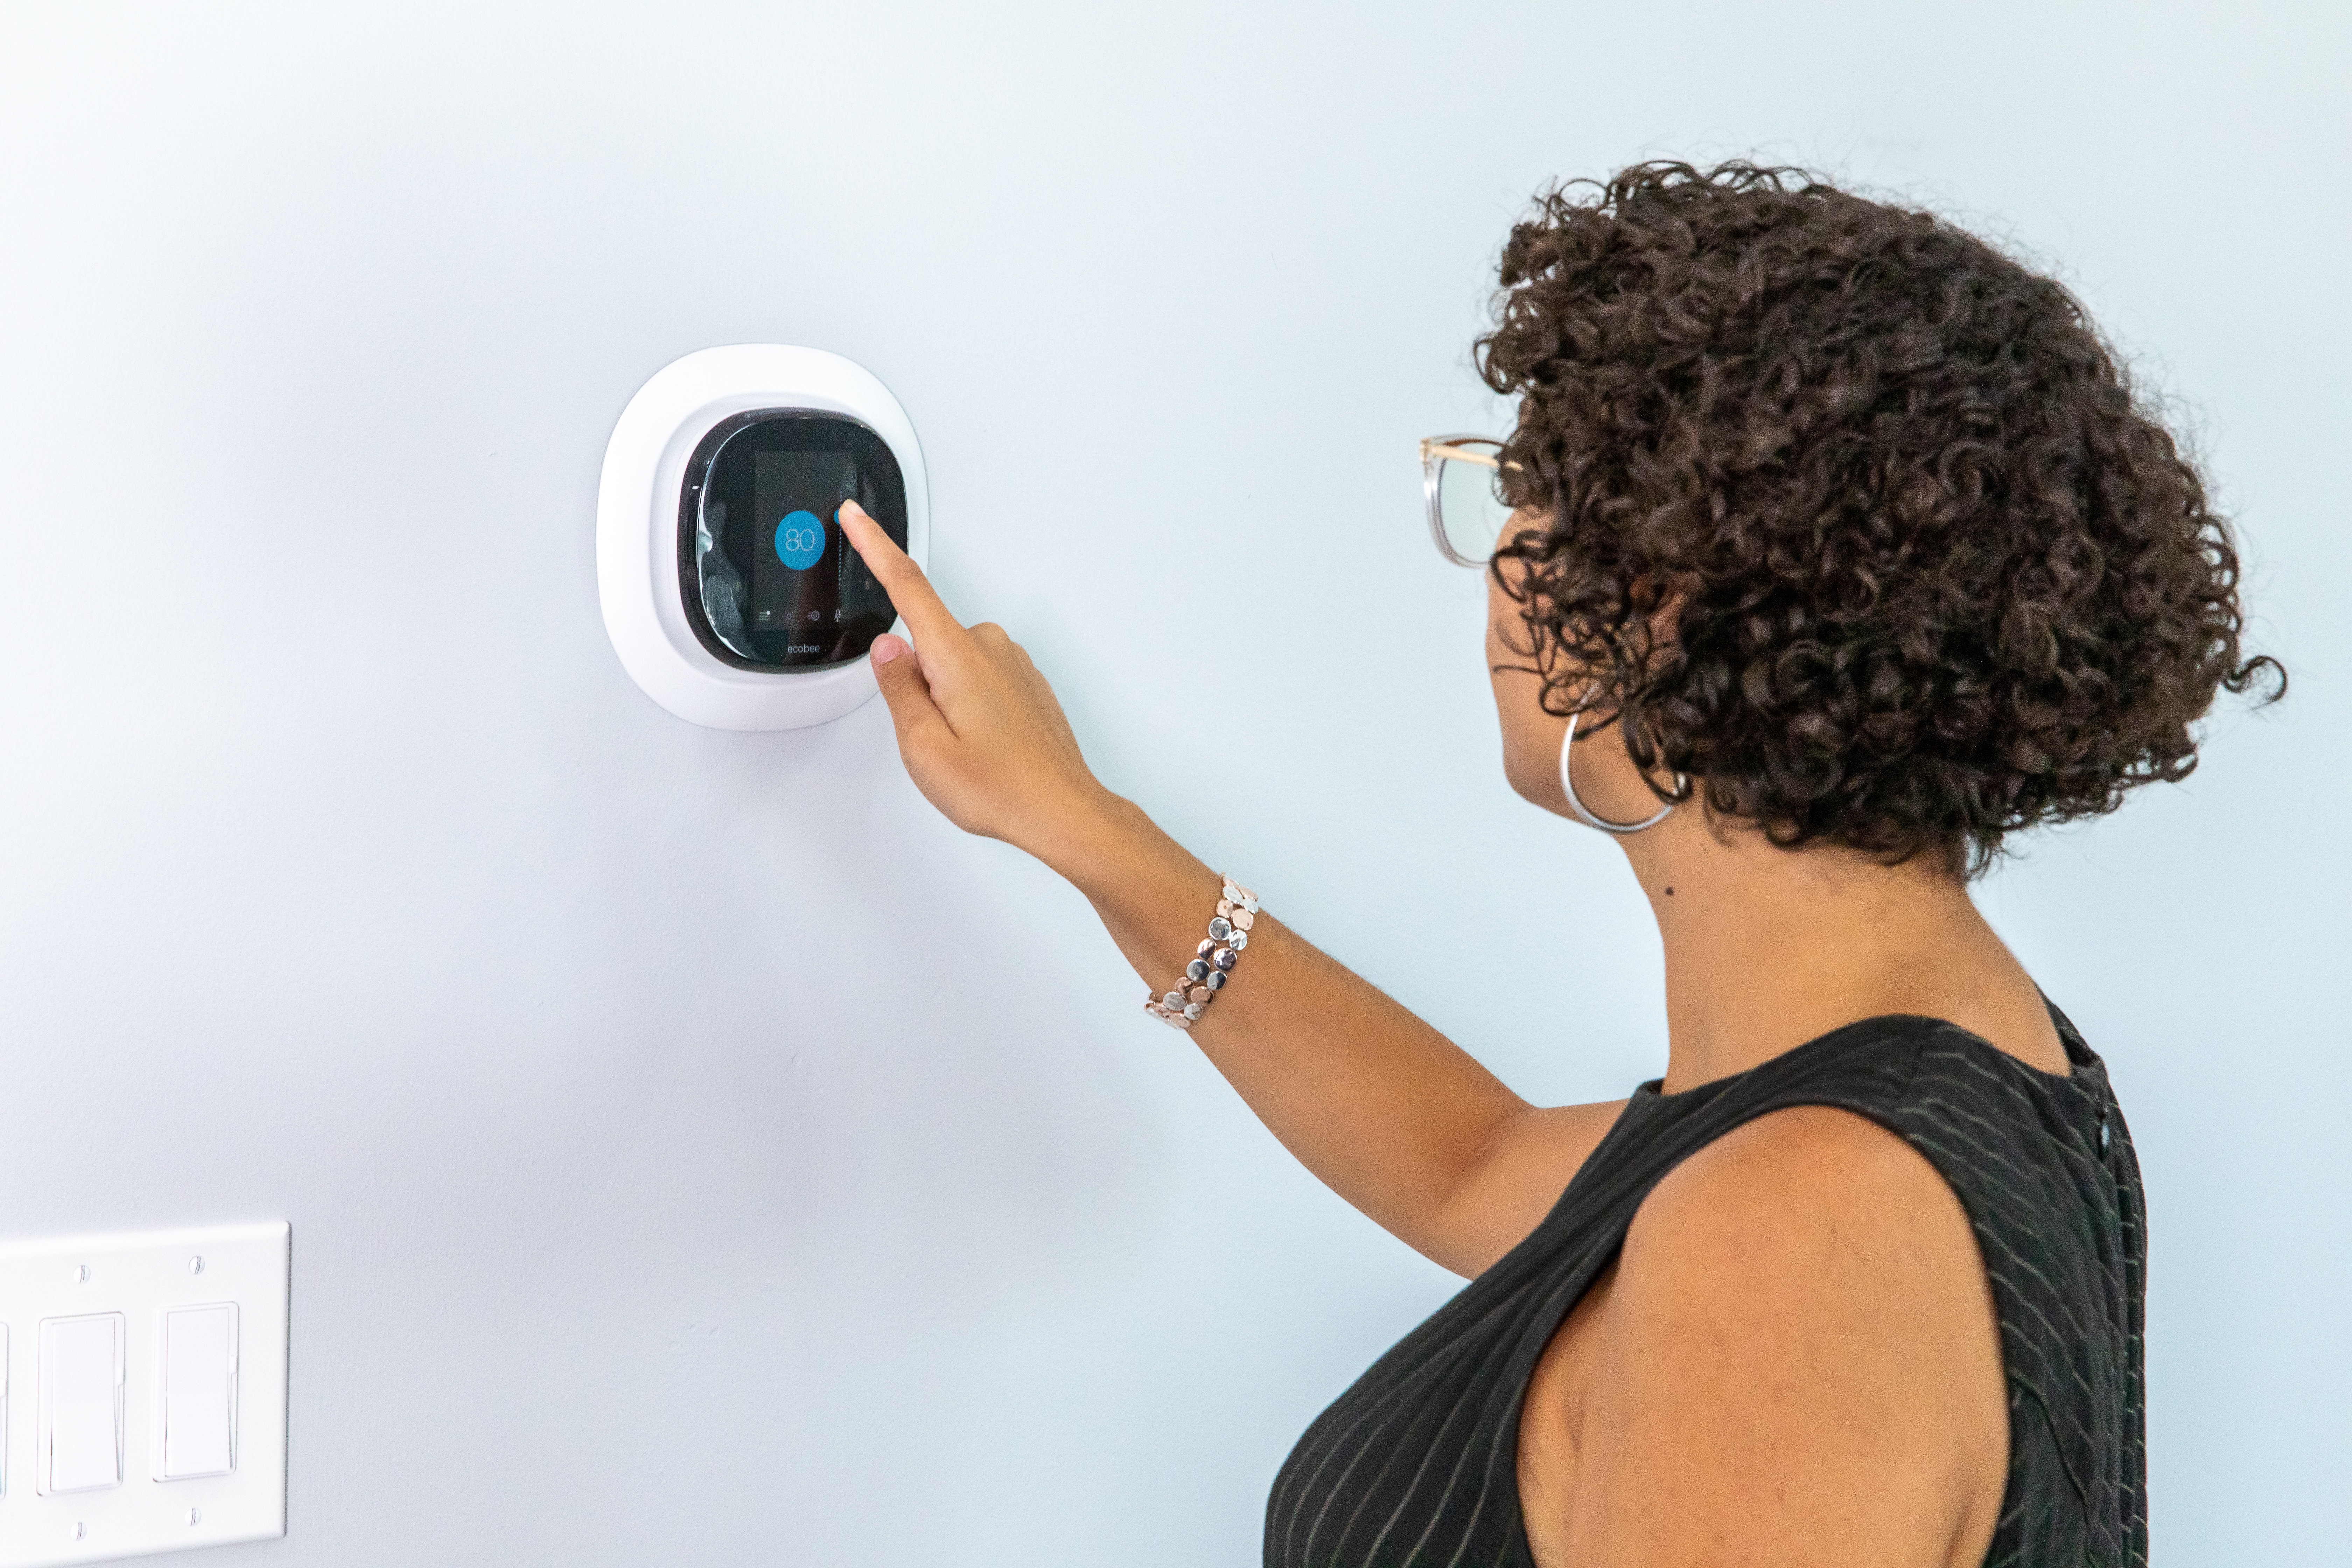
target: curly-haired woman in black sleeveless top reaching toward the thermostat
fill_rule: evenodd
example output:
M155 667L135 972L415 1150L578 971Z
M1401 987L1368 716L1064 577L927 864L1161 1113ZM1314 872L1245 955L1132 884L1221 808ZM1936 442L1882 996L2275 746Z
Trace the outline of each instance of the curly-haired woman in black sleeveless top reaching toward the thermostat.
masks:
M2223 522L2074 301L1933 216L1637 167L1545 197L1501 280L1510 524L1442 545L1489 569L1512 788L1616 835L1658 919L1630 1100L1522 1103L1261 914L842 517L915 637L873 658L917 788L1077 884L1145 1006L1472 1279L1301 1439L1265 1561L2143 1559L2131 1138L1966 879L2185 776L2277 672Z

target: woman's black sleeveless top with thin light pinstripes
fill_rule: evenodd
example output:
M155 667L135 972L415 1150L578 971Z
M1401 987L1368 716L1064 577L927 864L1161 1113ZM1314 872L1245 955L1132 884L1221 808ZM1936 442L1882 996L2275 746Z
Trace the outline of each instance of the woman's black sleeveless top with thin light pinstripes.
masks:
M1536 1359L1668 1171L1792 1105L1903 1135L1976 1227L2009 1375L1987 1568L2145 1563L2140 1166L2107 1070L2051 1018L2065 1079L1933 1018L1870 1018L1689 1093L1642 1084L1552 1213L1298 1439L1265 1568L1534 1568L1517 1455Z

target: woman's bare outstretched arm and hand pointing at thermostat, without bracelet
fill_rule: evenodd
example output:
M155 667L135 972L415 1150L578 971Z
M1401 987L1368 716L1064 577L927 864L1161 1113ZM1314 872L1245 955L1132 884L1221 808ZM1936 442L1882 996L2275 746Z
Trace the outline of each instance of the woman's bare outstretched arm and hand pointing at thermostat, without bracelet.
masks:
M915 788L1068 877L1164 987L1192 959L1216 872L1094 778L1021 644L948 614L856 503L840 522L915 635L873 649ZM1249 938L1192 1041L1317 1178L1449 1269L1477 1274L1534 1229L1616 1119L1616 1105L1531 1107L1268 914Z

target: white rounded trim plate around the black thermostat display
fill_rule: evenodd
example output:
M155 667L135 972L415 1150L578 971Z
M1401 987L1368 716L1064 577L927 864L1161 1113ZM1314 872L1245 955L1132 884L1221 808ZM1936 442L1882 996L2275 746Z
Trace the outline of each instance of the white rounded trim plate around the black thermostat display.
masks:
M906 552L931 559L931 487L915 425L873 371L821 348L736 343L654 371L621 409L597 484L595 576L604 630L644 693L710 729L826 724L875 691L873 663L736 670L687 625L677 583L677 505L687 463L713 425L760 409L847 414L880 435L906 477ZM906 621L891 625L906 637Z

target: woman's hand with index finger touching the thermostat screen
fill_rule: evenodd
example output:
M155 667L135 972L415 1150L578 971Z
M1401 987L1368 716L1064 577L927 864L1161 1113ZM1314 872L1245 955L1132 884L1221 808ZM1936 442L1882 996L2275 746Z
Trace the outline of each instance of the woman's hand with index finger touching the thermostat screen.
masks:
M873 646L915 788L964 832L1061 867L1070 837L1112 797L1087 769L1054 689L1002 625L967 628L948 614L866 508L844 501L837 520L915 635L915 646L889 635Z

